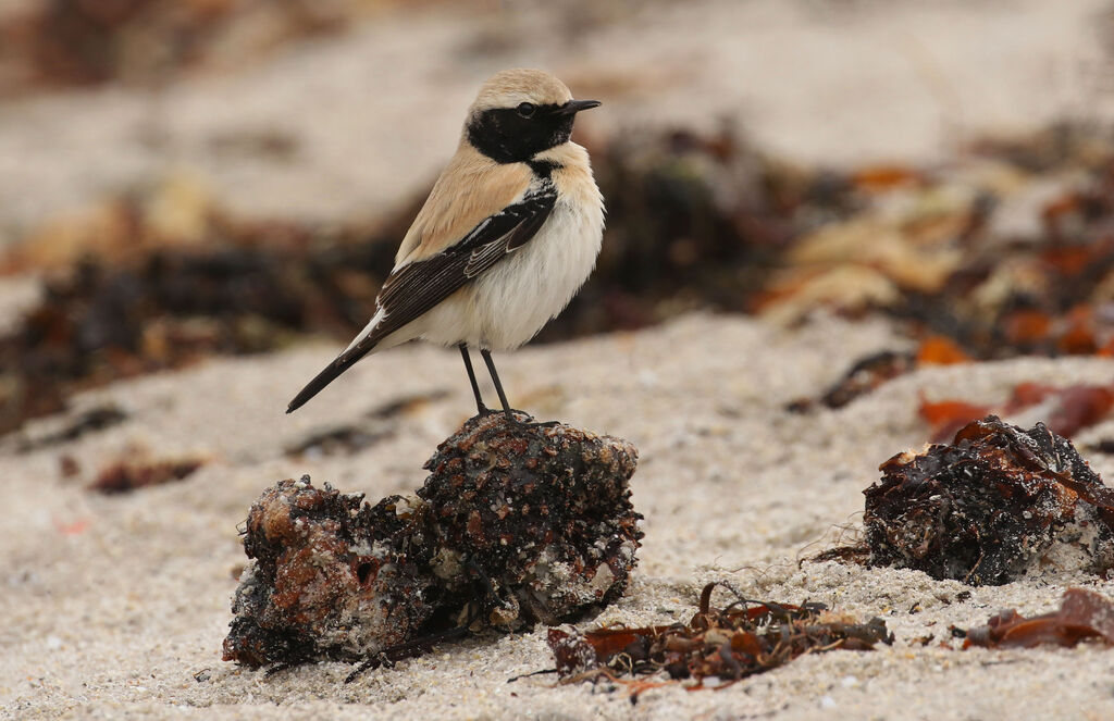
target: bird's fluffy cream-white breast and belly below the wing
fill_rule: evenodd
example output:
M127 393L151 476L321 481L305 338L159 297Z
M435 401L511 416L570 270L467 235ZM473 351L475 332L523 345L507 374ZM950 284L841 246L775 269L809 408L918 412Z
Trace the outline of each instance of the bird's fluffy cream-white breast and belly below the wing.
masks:
M558 202L526 245L461 289L453 298L458 302L428 313L443 318L426 324L426 340L494 351L518 348L576 295L595 267L602 234L602 211Z

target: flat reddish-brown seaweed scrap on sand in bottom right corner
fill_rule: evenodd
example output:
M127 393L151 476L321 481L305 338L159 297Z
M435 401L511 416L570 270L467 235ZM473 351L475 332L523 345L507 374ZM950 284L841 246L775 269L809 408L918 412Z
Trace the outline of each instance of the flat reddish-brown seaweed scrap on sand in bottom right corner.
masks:
M1114 602L1085 588L1064 592L1059 610L1026 618L1014 608L990 616L985 626L968 629L964 649L1033 649L1043 644L1074 646L1096 639L1114 644Z

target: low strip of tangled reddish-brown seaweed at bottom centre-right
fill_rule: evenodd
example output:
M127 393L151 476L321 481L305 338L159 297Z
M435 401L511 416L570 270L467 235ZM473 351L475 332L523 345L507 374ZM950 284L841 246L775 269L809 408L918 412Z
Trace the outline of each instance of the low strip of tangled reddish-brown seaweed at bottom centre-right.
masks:
M746 676L789 663L805 653L842 649L870 651L891 644L886 622L856 623L830 614L823 604L789 605L737 598L714 608L704 586L700 607L687 624L638 629L605 627L580 633L550 629L549 647L557 673L568 681L600 678L626 683L632 698L655 685L625 681L632 676L664 673L691 679L690 690L723 688Z

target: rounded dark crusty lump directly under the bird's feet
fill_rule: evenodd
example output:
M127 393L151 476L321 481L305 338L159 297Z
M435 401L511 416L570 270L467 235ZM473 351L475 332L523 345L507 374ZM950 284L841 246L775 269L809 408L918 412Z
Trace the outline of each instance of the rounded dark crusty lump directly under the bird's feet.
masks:
M472 418L426 464L432 474L418 491L430 508L434 574L490 584L502 606L492 621L507 626L560 623L610 603L642 537L627 484L637 458L625 440L568 426Z

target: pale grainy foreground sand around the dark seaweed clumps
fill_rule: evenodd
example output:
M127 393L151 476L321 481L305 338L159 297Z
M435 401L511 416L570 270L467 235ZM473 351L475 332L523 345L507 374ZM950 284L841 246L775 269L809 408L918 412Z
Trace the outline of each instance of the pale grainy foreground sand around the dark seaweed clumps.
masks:
M799 330L742 318L691 315L638 333L530 348L501 359L517 406L634 441L634 503L645 515L641 565L625 597L597 623L686 620L701 586L729 581L751 597L805 598L897 634L870 653L807 656L721 691L678 685L632 705L622 691L555 685L545 629L448 644L394 669L342 683L350 666L323 663L267 678L219 660L234 573L236 525L277 479L310 474L374 499L416 488L420 465L469 410L459 357L423 345L361 363L293 416L284 402L335 350L211 360L87 393L77 409L114 401L116 428L49 450L0 455L7 479L0 558L0 708L11 718L398 719L861 719L1110 718L1111 651L944 649L951 624L999 608L1053 610L1064 588L1114 595L1114 583L1049 568L1000 587L967 590L910 571L799 563L854 526L861 490L892 454L919 446L918 393L1000 401L1022 380L1108 381L1114 362L1023 359L929 368L838 411L791 415L863 353L901 348L887 322L815 318ZM355 456L290 459L312 430L355 420L414 393L393 435ZM490 388L488 388L490 391ZM61 422L32 423L41 437ZM1076 440L1114 435L1107 421ZM188 479L106 497L84 488L128 449L199 454ZM62 478L59 455L81 472ZM1114 458L1089 455L1110 477ZM919 604L921 611L910 614ZM921 647L913 640L934 635ZM956 644L951 644L956 645Z

